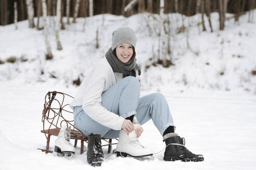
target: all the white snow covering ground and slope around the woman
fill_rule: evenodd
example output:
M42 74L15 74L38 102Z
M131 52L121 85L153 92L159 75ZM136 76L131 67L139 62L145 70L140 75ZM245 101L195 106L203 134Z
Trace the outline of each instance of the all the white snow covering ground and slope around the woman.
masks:
M155 160L143 162L110 154L96 168L256 169L256 76L251 74L256 70L255 21L248 23L248 15L244 15L239 23L233 19L226 21L225 30L219 31L218 14L212 13L211 33L207 22L208 31L199 31L197 22L201 16L184 17L188 31L175 34L182 26L182 16L170 17L175 66L169 68L145 68L150 65L149 59L157 55L158 47L156 33L150 35L147 23L152 30L159 29L158 22L147 13L129 18L79 18L78 23L66 25L66 30L60 31L62 51L56 50L51 18L51 61L45 61L43 30L29 29L28 21L19 22L18 30L14 24L0 26L0 60L5 62L0 64L0 170L95 169L87 164L86 153L79 154L79 147L72 160L37 150L46 147L46 138L40 132L44 96L54 90L74 96L77 87L72 85L73 80L83 79L87 69L104 57L112 31L120 26L132 27L138 37L141 95L161 92L167 98L176 132L185 137L189 150L203 154L204 161L164 162L164 151L155 154ZM99 49L95 49L97 29ZM190 49L186 46L187 38ZM17 62L7 63L10 56L15 56ZM143 128L142 145L154 153L162 150L165 145L153 123L150 121ZM51 137L50 150L54 150L55 139Z

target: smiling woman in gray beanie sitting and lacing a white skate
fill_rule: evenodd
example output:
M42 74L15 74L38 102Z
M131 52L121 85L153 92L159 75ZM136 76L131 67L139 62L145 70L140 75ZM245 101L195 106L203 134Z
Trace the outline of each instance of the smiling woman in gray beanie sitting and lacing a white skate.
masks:
M140 145L140 124L152 119L167 145L165 161L203 161L191 153L183 139L174 133L175 125L164 96L153 93L139 98L140 67L136 64L136 36L129 27L112 34L112 45L96 66L88 71L70 106L74 123L85 136L99 134L117 138L117 155L145 157L150 149Z

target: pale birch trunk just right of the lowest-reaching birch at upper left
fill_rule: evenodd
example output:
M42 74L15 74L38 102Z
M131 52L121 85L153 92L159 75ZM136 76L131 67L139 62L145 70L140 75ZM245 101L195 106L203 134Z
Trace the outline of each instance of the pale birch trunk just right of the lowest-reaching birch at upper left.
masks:
M61 19L61 0L57 0L57 15L56 15L56 22L55 22L55 36L57 41L57 50L62 50L60 39L59 39L60 19Z

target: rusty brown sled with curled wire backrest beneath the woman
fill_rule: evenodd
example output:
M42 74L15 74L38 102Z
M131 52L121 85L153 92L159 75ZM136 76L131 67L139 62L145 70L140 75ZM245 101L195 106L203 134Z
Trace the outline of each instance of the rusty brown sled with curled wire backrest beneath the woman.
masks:
M72 98L71 95L57 91L48 92L45 95L44 109L42 112L43 130L41 133L44 133L47 139L46 149L38 149L45 153L52 153L53 151L49 150L50 136L58 136L61 126L66 124L67 126L71 126L70 139L75 140L74 147L76 147L78 140L81 140L80 153L83 154L84 141L87 143L88 139L74 125L73 111L69 107ZM107 141L105 138L101 138L101 140ZM111 145L114 144L112 144L112 139L108 140L107 142L109 144L102 146L108 146L108 153L110 153L112 151Z

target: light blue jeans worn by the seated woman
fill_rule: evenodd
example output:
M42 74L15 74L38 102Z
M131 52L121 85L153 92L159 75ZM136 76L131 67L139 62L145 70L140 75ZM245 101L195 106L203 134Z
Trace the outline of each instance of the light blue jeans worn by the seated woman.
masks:
M123 78L101 94L101 105L123 118L135 115L140 124L152 119L161 135L167 127L174 126L165 97L152 93L139 98L139 82L132 76ZM85 136L94 133L104 138L117 138L120 132L90 118L82 106L74 107L74 124Z

